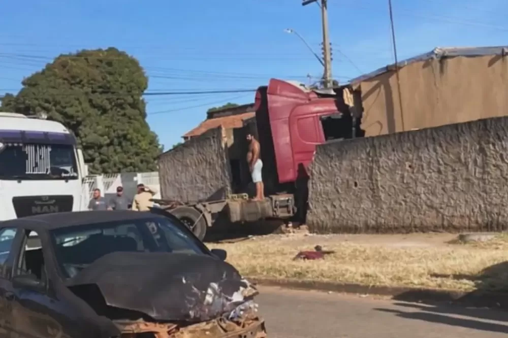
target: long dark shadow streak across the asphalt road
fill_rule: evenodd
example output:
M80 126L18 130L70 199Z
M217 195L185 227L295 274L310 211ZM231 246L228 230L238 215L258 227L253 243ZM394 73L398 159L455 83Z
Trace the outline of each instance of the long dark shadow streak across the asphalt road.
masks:
M396 306L410 309L408 311L379 308L375 310L392 313L406 319L422 320L481 331L508 333L508 325L478 320L508 321L508 313L504 312L486 309L466 309L458 306L421 306L409 303L396 303ZM458 318L456 316L470 318Z

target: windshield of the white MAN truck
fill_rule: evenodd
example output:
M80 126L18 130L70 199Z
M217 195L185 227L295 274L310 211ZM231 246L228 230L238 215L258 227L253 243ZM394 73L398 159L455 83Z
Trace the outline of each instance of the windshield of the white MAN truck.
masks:
M0 141L0 179L77 180L74 146Z

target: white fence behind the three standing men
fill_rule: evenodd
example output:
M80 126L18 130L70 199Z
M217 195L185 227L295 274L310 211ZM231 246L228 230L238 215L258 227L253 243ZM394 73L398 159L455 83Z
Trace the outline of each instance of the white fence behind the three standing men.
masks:
M136 186L140 183L156 189L157 194L154 198L161 198L157 172L89 175L83 179L83 192L87 194L89 200L94 189L101 189L103 196L107 197L116 193L116 187L122 186L125 196L134 197Z

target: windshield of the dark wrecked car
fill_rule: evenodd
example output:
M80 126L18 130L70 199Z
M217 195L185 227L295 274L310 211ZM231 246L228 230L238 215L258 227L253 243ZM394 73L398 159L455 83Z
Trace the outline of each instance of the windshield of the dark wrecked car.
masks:
M196 239L165 217L122 220L50 231L55 255L66 278L112 252L169 252L208 255Z

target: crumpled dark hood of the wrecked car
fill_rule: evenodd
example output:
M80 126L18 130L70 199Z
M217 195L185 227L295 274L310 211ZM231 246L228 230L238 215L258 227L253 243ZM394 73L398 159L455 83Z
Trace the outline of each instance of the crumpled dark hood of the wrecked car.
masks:
M180 253L111 253L66 283L70 289L89 284L98 286L108 306L164 321L211 320L257 294L232 265Z

